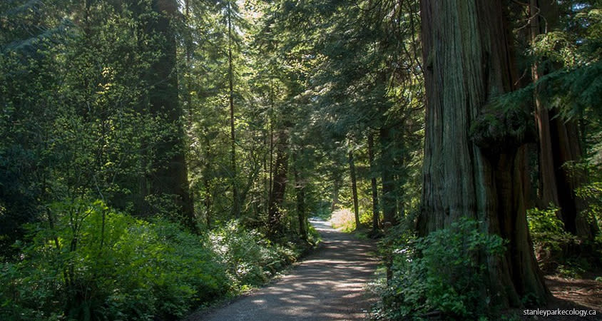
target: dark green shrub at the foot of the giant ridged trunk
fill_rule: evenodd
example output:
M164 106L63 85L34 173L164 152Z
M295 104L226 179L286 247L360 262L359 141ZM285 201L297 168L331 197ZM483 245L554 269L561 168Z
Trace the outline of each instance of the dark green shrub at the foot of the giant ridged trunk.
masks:
M491 311L483 291L486 262L504 253L504 241L462 219L425 238L409 238L393 253L393 278L382 292L383 315L420 320L438 311L449 320L478 320Z

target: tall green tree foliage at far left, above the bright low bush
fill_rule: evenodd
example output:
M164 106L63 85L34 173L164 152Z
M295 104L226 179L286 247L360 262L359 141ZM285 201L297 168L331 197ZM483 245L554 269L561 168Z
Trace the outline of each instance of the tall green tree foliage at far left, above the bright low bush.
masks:
M87 195L146 215L168 194L141 186L173 156L160 142L178 128L148 113L146 75L165 39L141 30L157 17L150 0L136 2L1 4L3 254L54 200Z

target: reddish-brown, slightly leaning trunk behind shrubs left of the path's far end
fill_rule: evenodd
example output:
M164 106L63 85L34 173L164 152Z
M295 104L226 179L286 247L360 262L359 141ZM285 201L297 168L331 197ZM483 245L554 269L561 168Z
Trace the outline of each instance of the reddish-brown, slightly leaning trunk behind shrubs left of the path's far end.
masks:
M281 129L276 142L276 165L274 183L270 194L270 206L267 211L268 224L272 235L282 230L280 208L285 200L285 190L288 175L288 134L287 130Z

